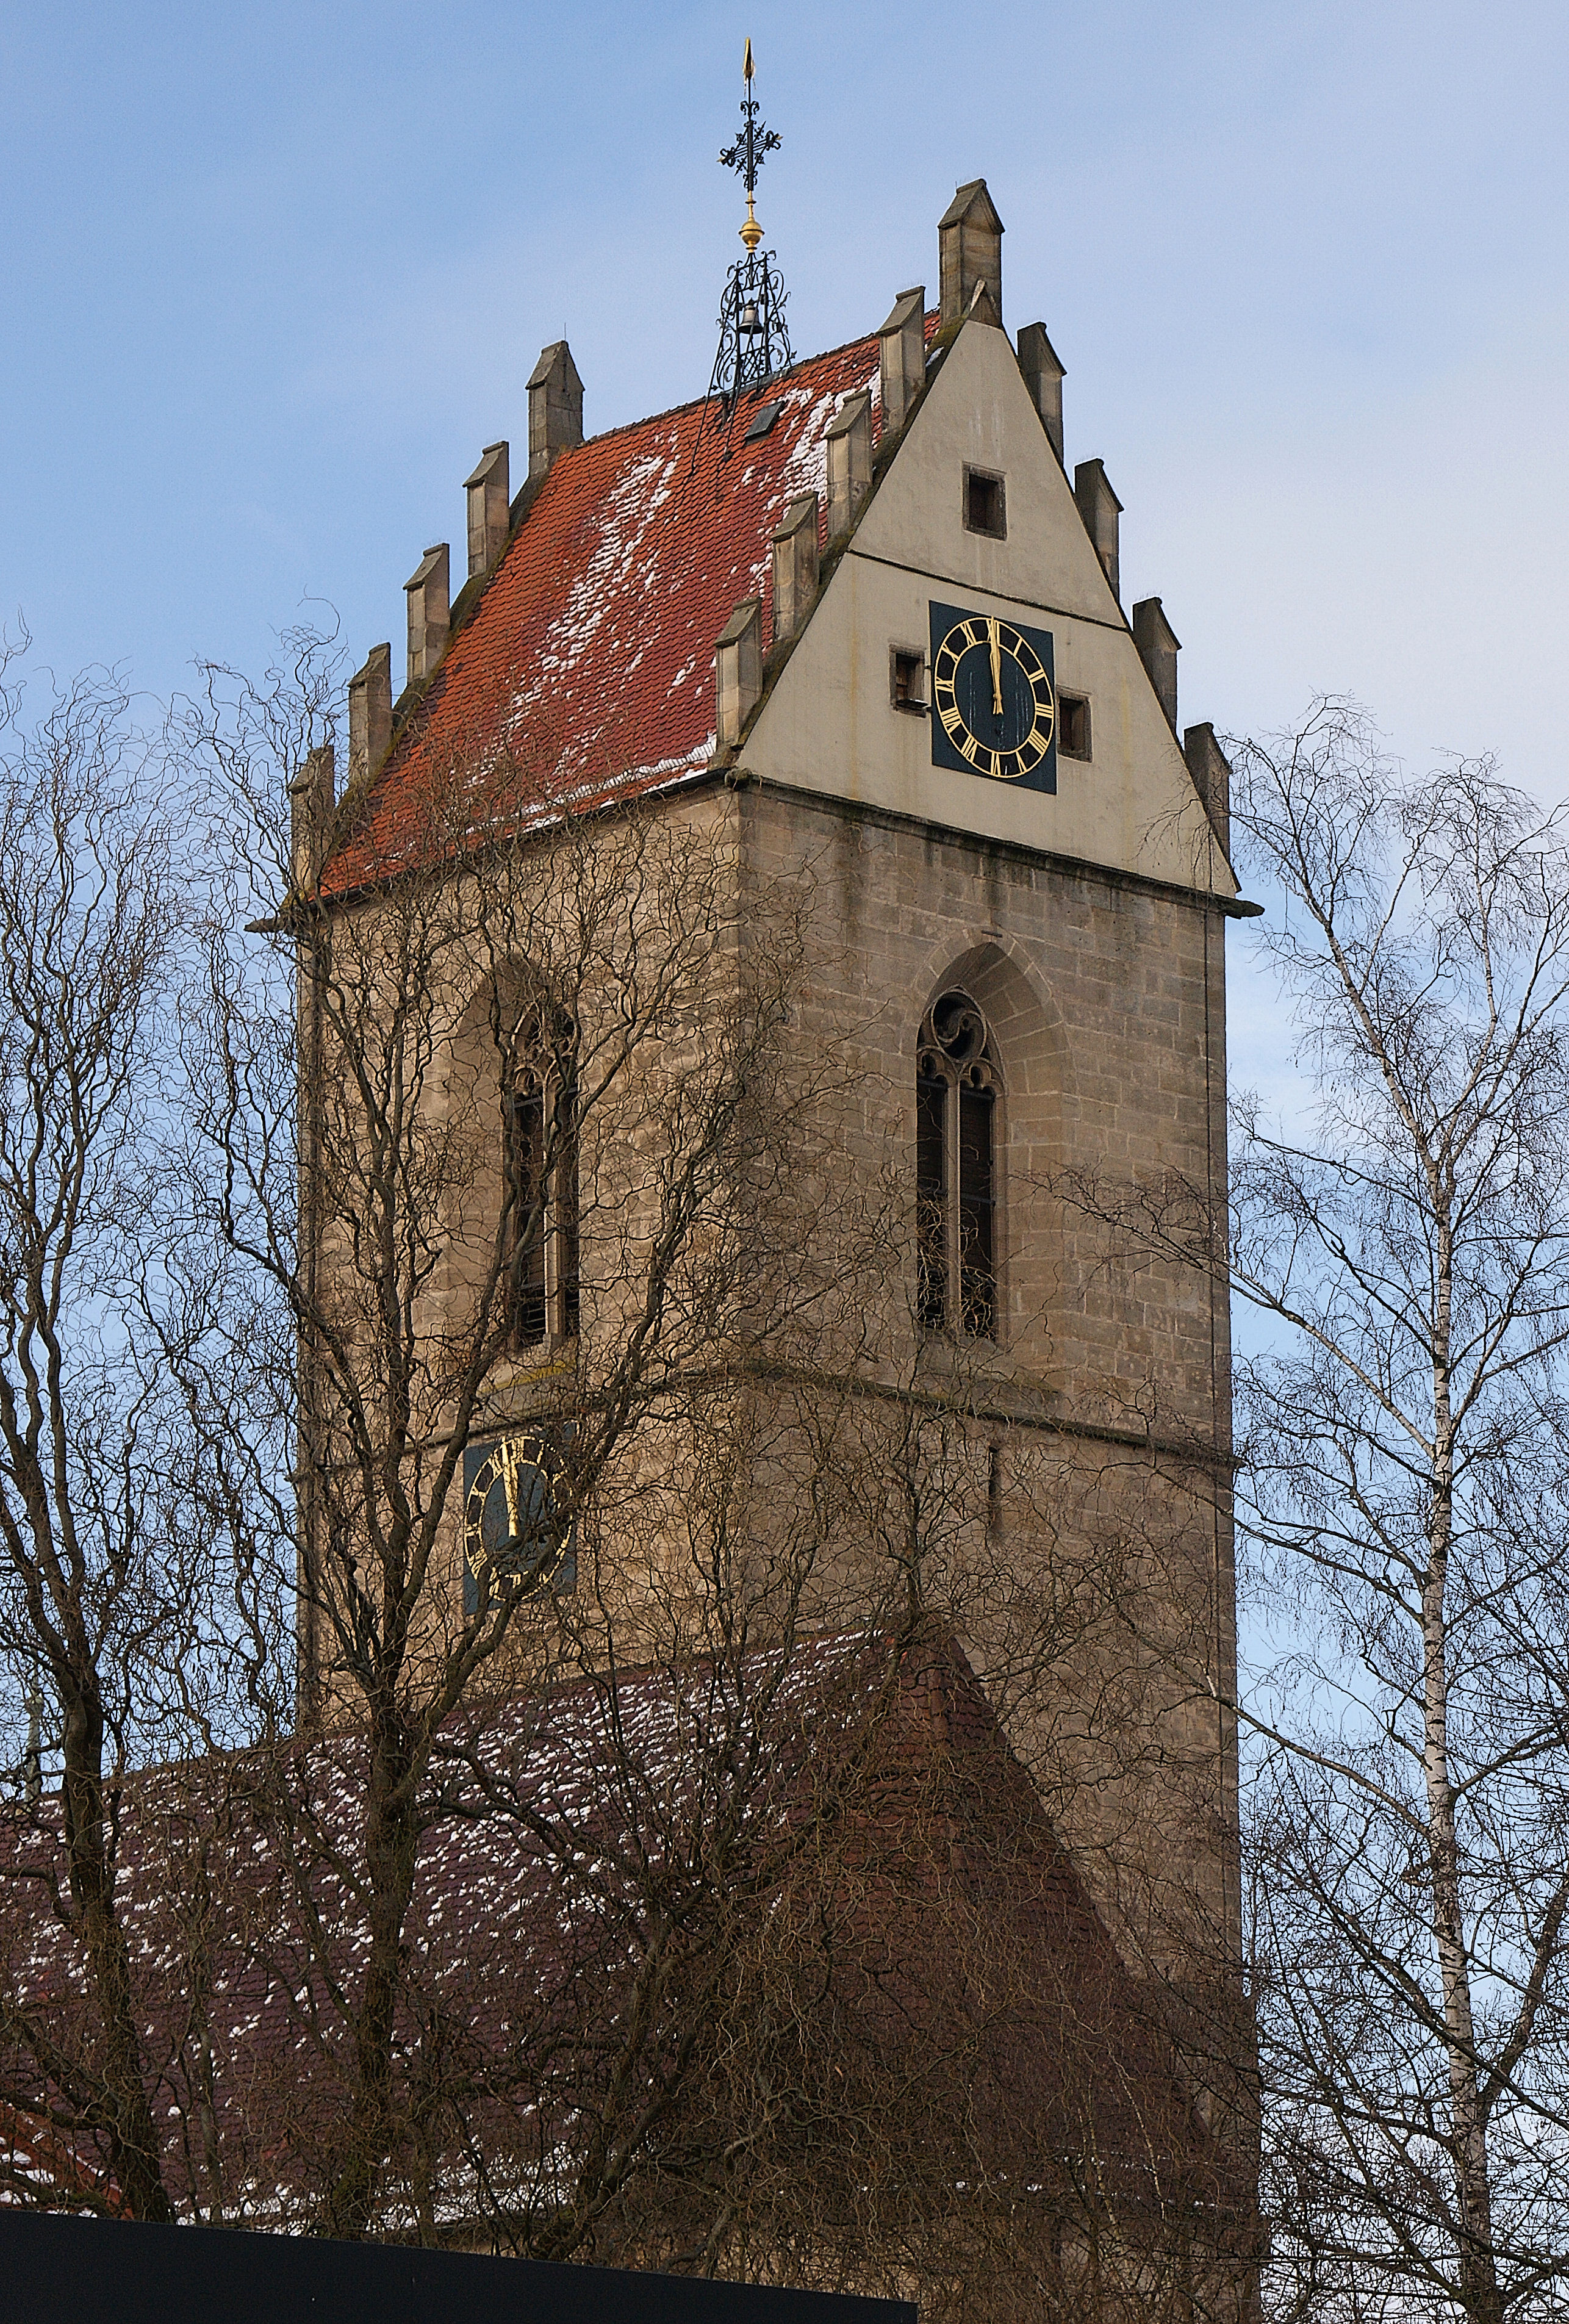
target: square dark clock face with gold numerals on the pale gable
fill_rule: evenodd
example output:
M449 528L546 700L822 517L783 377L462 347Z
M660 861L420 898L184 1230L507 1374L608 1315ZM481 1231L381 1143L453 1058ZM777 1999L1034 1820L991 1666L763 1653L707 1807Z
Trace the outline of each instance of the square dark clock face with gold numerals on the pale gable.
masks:
M1051 630L932 607L932 765L1058 788Z

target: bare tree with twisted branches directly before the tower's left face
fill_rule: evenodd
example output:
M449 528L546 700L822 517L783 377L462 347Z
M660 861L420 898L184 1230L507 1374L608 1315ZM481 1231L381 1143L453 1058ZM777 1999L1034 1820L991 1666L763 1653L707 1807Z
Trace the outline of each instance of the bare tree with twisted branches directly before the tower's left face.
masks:
M986 2205L960 2222L955 2185L990 2171L1020 2282L1067 2236L1148 2289L1148 2219L1118 2243L1104 2189L1027 2178L1053 2075L1020 2064L1039 1964L1018 1885L1055 1894L1060 1857L1030 1859L1020 1827L1013 1887L976 1894L946 1778L893 1838L876 1810L909 1655L944 1629L986 1638L1009 1713L1039 1708L1044 1771L1120 1569L1092 1525L1069 1550L1095 1483L1030 1399L1009 1425L981 1367L916 1327L909 1195L844 1153L865 1092L832 1025L802 1034L811 878L762 881L723 790L595 806L590 769L563 816L549 753L474 737L381 853L344 802L356 885L323 895L279 802L323 799L328 709L307 646L265 688L214 674L186 727L239 816L186 1018L191 1181L230 1297L272 1318L230 1334L193 1406L230 1446L230 1538L270 1525L298 1569L302 1738L258 1773L244 1843L277 1866L246 1945L293 2029L298 2099L256 2108L286 2201L335 2233L460 2215L542 2257L848 2282L918 2247L958 2268ZM1027 1550L1000 1525L1004 1436ZM288 1448L277 1473L263 1443ZM860 1645L823 1752L802 1703L816 1687L834 1731L814 1678L834 1638ZM539 1780L551 1748L576 1766L563 1736L588 1789ZM428 1880L453 1848L558 1899L567 1936L532 1978L509 1922L451 1961ZM930 1961L920 1996L909 1957L867 1959L867 1899L902 1892L911 1929L946 1931L946 2008ZM825 2068L825 2029L855 2022L855 2071ZM1006 2103L939 2138L939 2087L1002 2029ZM1095 2178L1083 2119L1072 2140ZM1172 2284L1192 2298L1192 2268Z

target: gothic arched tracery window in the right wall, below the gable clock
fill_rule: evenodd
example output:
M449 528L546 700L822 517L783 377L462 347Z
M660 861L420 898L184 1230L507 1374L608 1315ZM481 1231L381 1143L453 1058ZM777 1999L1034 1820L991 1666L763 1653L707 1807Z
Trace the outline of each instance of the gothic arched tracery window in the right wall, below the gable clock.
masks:
M951 988L927 1011L916 1062L920 1322L997 1336L997 1092L981 1009Z

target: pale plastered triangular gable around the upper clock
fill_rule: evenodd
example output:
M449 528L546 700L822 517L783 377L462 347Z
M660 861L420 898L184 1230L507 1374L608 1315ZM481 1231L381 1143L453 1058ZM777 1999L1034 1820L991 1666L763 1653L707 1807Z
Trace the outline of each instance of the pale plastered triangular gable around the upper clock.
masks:
M967 465L1004 479L1006 539L965 528ZM1090 702L1095 753L1058 758L1055 797L934 767L927 718L895 709L890 648L925 651L932 600L1051 632L1058 686ZM979 321L932 379L744 758L762 781L1237 895L1013 349Z

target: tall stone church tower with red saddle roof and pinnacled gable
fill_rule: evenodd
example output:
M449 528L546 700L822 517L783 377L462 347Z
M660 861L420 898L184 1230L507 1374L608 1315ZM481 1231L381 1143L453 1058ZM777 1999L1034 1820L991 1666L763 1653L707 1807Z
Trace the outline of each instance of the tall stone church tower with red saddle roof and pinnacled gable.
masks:
M446 546L425 551L404 693L391 704L374 648L351 688L349 790L316 786L298 853L302 892L349 925L411 869L483 895L497 830L509 846L537 834L579 890L628 830L667 871L672 834L695 844L704 897L730 899L709 957L732 960L737 992L779 976L769 1088L811 1092L795 1176L758 1162L765 1141L725 1148L735 1215L765 1241L779 1206L809 1218L772 1313L811 1276L811 1220L830 1211L862 1236L853 1290L846 1276L811 1308L832 1308L821 1346L804 1294L748 1346L739 1308L714 1320L714 1292L686 1369L660 1376L662 1452L644 1441L609 1513L574 1499L621 1350L655 1306L672 1329L672 1299L630 1301L625 1267L658 1241L632 1188L658 1181L655 1125L679 1104L649 1099L597 1143L574 1109L607 1053L593 1027L646 974L639 927L667 932L679 909L674 890L644 923L607 906L595 925L614 941L579 944L572 997L504 946L477 948L442 1034L467 1081L453 1067L439 1106L444 1122L467 1106L493 1153L477 1148L463 1225L418 1287L442 1378L467 1383L442 1390L430 1429L460 1476L430 1620L449 1643L483 1622L502 1573L581 1606L590 1559L625 1569L632 1534L658 1599L660 1527L688 1525L707 1490L690 1413L669 1415L723 1380L748 1399L753 1450L767 1441L753 1476L774 1464L746 1499L755 1538L788 1506L788 1527L837 1543L839 1580L816 1569L793 1618L851 1618L867 1543L900 1534L895 1504L909 1538L930 1527L946 1634L1127 1966L1209 2054L1202 2108L1246 2147L1230 1315L1206 1262L1227 1185L1223 939L1253 909L1227 860L1227 765L1211 725L1178 727L1160 597L1123 607L1120 502L1099 458L1065 465L1044 323L1009 335L986 181L939 218L934 300L900 288L879 330L797 358L755 218L765 151L748 77L728 156L744 258L709 395L586 437L593 383L565 342L542 351L528 474L511 490L507 444L486 446L467 581L453 597ZM795 899L788 944L779 897ZM735 1039L728 1009L711 1023ZM1148 1232L1176 1211L1188 1260ZM711 1248L741 1301L746 1234L728 1225ZM830 1406L876 1490L839 1490L825 1462L790 1501ZM323 1525L307 1511L307 1562L330 1555ZM330 1692L330 1645L309 1655ZM1216 2013L1225 2043L1195 2031Z

